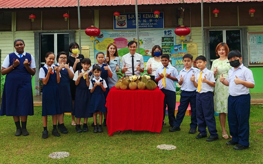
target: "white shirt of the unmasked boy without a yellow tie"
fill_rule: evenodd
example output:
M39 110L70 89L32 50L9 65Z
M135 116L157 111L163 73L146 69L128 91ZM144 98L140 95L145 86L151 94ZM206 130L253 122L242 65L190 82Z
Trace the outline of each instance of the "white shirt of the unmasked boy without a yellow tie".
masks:
M178 81L180 80L181 75L184 78L184 81L181 86L182 91L196 91L193 81L191 81L190 78L192 77L193 74L195 74L198 71L199 69L193 66L188 71L186 70L186 67L184 67L184 69L180 71Z

